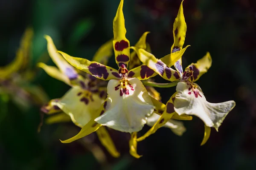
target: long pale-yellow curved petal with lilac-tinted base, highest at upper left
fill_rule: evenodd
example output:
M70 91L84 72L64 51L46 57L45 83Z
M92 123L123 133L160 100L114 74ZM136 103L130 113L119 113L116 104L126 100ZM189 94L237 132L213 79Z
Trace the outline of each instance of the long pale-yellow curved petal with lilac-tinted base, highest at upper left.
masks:
M76 70L57 52L58 50L55 47L52 38L48 35L45 35L44 37L47 40L47 49L52 61L70 80L76 79L78 77Z

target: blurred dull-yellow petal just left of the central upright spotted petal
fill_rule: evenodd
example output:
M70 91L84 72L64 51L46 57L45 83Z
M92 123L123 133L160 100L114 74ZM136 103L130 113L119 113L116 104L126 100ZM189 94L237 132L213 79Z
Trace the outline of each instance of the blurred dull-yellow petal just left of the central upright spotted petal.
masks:
M99 62L101 64L107 65L108 59L113 54L113 40L109 40L105 42L98 51L96 51L95 55L93 56L92 61Z

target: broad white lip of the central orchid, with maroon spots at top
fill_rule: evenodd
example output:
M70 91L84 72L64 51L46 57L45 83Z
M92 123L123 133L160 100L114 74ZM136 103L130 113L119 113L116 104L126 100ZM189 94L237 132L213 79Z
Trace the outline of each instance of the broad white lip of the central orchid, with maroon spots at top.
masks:
M121 132L132 133L143 128L154 106L139 79L131 78L128 83L122 88L117 80L108 82L106 112L96 122Z

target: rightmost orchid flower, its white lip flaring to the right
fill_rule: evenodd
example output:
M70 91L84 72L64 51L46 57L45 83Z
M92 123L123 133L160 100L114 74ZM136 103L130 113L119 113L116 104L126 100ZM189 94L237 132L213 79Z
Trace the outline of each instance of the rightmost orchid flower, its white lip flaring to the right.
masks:
M234 101L227 101L222 103L209 103L207 102L201 88L195 83L212 65L212 58L207 54L199 59L196 63L190 64L183 72L181 58L175 62L174 66L177 70L175 72L176 79L170 79L169 76L173 75L169 71L169 66L172 64L175 53L180 53L186 35L186 23L183 15L182 3L175 19L174 28L174 44L171 48L170 60L161 60L154 57L153 54L148 53L142 48L133 47L137 52L140 60L149 68L154 70L157 74L169 81L177 81L175 94L171 96L166 103L166 110L158 119L157 123L137 141L145 139L150 134L154 133L159 127L177 113L178 115L195 115L198 116L205 124L204 139L201 145L205 144L209 139L210 127L218 127L221 125L227 114L235 107ZM172 68L171 68L172 69ZM175 83L175 82L174 82Z

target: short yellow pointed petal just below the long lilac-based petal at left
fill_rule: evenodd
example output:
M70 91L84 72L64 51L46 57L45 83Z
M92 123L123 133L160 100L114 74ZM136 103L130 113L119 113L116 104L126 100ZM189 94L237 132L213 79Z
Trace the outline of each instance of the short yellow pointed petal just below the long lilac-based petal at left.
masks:
M67 85L70 85L70 81L68 77L65 74L62 74L61 71L58 70L55 66L46 65L43 62L39 62L38 67L41 67L44 69L44 71L50 76L55 79L60 80L61 82L66 83Z

